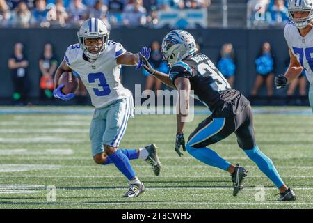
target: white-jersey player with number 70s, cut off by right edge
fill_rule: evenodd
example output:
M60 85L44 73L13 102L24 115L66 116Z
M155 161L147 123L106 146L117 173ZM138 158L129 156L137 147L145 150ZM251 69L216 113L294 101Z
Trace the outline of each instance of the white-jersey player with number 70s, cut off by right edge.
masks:
M296 79L303 69L310 82L309 100L313 112L313 0L289 0L288 12L290 21L284 27L290 65L284 75L275 79L278 89Z

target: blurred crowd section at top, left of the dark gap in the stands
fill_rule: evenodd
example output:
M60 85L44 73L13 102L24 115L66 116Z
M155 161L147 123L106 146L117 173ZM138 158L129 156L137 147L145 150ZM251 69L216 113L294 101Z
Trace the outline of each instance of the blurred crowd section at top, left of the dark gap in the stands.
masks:
M0 26L76 27L88 17L111 26L157 24L158 10L209 7L211 0L0 0Z

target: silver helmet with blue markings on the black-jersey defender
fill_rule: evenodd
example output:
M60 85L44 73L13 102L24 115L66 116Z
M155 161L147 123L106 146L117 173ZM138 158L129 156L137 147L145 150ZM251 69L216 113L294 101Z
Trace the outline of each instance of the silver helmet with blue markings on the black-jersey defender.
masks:
M198 51L195 44L195 38L184 30L170 31L163 39L161 54L163 60L172 67L174 63L182 61L188 56L195 54Z

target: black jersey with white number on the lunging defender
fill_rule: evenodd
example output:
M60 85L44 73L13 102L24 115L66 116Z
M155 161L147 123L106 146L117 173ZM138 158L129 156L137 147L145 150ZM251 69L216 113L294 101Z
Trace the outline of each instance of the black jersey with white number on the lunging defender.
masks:
M207 105L216 117L235 116L250 103L239 91L230 87L204 54L175 63L170 70L170 79L174 83L177 77L190 80L195 98Z

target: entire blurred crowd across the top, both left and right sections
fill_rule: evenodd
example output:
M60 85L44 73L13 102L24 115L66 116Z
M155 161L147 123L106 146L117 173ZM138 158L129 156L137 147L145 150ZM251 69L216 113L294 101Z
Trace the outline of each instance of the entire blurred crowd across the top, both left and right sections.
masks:
M0 0L0 26L77 27L88 17L98 17L109 28L154 27L161 11L211 5L220 8L220 13L225 11L223 1L211 0ZM283 26L289 20L287 0L243 0L243 7L247 9L247 15L242 15L247 22L242 26L249 28ZM210 19L210 13L205 19Z

